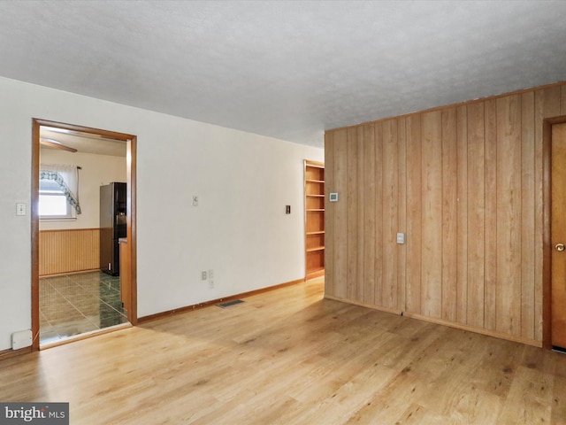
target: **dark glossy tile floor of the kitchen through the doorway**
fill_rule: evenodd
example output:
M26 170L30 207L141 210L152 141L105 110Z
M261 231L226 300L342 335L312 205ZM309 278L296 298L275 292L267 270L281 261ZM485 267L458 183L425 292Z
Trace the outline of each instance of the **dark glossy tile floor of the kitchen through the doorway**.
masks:
M120 278L102 272L42 277L40 345L126 323Z

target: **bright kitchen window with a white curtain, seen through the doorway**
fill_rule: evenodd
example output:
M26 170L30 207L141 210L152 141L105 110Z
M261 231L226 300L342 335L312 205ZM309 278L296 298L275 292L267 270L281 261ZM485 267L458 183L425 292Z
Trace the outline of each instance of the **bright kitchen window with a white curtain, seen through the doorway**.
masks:
M40 219L75 219L80 214L77 166L42 165L39 178Z

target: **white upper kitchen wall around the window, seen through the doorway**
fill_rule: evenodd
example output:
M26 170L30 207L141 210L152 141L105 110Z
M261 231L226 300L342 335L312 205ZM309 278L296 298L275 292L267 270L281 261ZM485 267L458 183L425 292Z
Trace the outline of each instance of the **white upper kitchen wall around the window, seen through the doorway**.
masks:
M40 230L99 228L100 187L110 182L126 182L126 158L92 153L71 153L57 149L41 149L40 151L42 164L68 164L81 167L79 170L81 213L77 214L76 220L40 220Z

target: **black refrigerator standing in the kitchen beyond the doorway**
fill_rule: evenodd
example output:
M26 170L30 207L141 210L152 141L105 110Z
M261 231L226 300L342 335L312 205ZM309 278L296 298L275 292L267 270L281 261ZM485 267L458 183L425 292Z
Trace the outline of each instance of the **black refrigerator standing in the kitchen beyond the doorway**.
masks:
M126 183L100 187L100 269L120 274L119 238L126 237Z

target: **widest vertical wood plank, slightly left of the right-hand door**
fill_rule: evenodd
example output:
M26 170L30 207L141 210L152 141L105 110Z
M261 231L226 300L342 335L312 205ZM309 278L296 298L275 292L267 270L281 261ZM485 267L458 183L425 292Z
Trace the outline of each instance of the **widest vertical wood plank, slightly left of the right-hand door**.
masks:
M521 334L521 98L497 103L497 330Z

